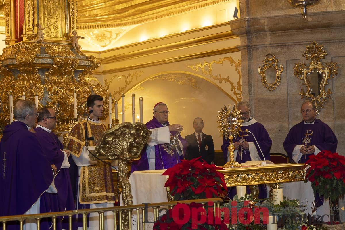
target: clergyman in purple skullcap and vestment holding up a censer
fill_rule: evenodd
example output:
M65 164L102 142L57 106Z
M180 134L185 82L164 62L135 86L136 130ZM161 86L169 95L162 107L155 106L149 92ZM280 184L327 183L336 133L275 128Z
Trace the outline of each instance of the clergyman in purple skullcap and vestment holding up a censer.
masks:
M152 131L146 146L141 152L139 160L133 161L131 171L168 169L181 162L184 158L188 143L178 134L178 145L169 154L164 148L170 143L170 137L181 132L180 124L169 124L169 111L165 103L155 104L153 118L146 123L146 127Z

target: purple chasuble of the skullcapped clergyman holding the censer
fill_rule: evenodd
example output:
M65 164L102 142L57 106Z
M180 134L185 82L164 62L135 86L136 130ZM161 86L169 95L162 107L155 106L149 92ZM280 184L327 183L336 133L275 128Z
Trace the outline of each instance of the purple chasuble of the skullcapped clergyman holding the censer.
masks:
M167 126L169 126L169 121L166 123ZM146 123L146 127L148 129L154 129L154 128L161 128L164 127L161 123L157 121L155 117L152 118L152 120L148 121ZM171 135L175 135L177 131L170 131ZM179 134L178 139L181 141L182 146L183 146L183 152L186 152L188 143L186 139L182 138L181 135ZM181 159L183 159L183 155L179 156L176 150L173 150L173 155L172 157L170 156L169 153L167 153L164 150L164 145L165 144L156 144L155 145L155 156L156 156L156 166L155 169L168 169L174 166L175 164L178 164L181 162ZM147 152L146 152L146 147L145 145L144 149L141 151L141 157L139 160L133 161L132 167L131 167L131 172L134 171L144 171L144 170L149 170L149 162L147 159Z

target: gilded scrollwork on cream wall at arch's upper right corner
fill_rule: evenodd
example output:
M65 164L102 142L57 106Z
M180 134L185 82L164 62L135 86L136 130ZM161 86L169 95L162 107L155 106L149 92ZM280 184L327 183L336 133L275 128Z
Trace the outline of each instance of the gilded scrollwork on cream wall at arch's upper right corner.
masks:
M237 81L237 85L234 84L234 82L230 81L229 76L226 76L225 78L221 76L221 74L217 74L217 75L213 75L212 73L212 65L213 64L222 64L224 61L229 61L231 66L235 67L235 70L238 74L238 81ZM199 68L201 69L201 71L203 71L203 74L210 76L213 80L215 81L219 81L219 83L225 81L228 82L231 85L231 92L234 92L234 95L236 97L237 101L242 101L242 84L241 84L241 78L242 78L242 74L239 68L241 68L241 59L238 59L237 62L232 58L222 58L218 61L211 61L211 62L206 62L204 61L204 64L201 64L201 62L199 62L199 64L196 64L195 66L188 66L189 68L195 70L195 71L199 71Z

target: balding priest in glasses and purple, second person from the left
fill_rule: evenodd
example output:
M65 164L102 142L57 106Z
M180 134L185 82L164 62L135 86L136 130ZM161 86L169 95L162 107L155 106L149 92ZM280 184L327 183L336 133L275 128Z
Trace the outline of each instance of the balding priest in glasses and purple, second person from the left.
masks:
M51 164L55 164L58 173L55 176L54 183L58 190L56 194L50 194L50 204L52 212L63 212L74 210L74 199L72 185L69 176L68 157L70 151L63 149L61 141L52 130L56 127L56 114L53 109L43 107L38 111L37 126L35 128L36 136L42 146L43 152L46 154ZM58 227L68 229L68 217L59 219L61 225ZM72 219L72 230L76 230L77 222L75 216Z

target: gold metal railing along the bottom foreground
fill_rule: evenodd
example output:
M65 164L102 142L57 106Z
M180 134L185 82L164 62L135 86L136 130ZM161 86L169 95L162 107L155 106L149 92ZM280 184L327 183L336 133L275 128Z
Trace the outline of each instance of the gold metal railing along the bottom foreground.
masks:
M19 221L19 229L23 230L23 226L26 220L36 220L37 230L40 230L40 221L42 218L52 218L52 229L56 230L56 221L58 217L66 216L68 217L69 222L69 230L72 230L72 217L75 215L82 215L82 229L87 230L87 215L89 213L98 213L99 214L99 229L104 230L104 212L112 211L114 213L114 230L131 230L131 216L133 211L137 215L137 230L140 229L140 224L142 224L142 229L145 230L145 213L147 213L148 208L153 209L154 213L154 221L158 220L159 218L159 208L160 207L168 207L172 209L177 203L186 203L189 204L191 202L201 203L205 206L205 204L209 201L214 203L214 213L216 208L219 208L220 203L223 202L220 198L212 198L212 199L199 199L199 200L184 200L184 201L173 201L173 202L163 202L163 203L149 203L149 204L138 204L132 206L117 206L117 207L110 207L110 208L98 208L98 209L79 209L73 211L65 211L65 212L49 212L49 213L40 213L40 214L30 214L30 215L18 215L18 216L4 216L0 217L0 222L2 222L2 229L6 230L6 223L9 221ZM140 222L140 212L142 211L142 221ZM129 218L128 222L125 223L123 219L123 214L127 213ZM119 228L118 228L119 227Z

